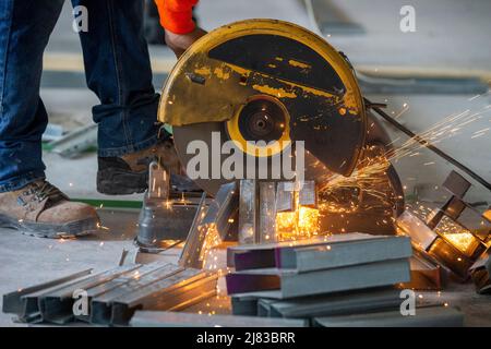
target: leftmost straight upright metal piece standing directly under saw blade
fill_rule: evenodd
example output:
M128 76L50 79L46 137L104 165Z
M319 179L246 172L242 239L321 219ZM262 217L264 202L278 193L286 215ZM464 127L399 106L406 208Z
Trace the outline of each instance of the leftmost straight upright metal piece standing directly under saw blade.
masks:
M255 180L240 181L239 193L239 244L256 242L258 186Z

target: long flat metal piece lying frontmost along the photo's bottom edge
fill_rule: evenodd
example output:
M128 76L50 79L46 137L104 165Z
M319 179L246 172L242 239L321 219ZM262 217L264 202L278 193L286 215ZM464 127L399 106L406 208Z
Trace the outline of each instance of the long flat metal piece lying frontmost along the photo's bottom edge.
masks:
M133 327L306 327L303 320L264 318L237 315L202 315L177 312L137 311L130 325Z

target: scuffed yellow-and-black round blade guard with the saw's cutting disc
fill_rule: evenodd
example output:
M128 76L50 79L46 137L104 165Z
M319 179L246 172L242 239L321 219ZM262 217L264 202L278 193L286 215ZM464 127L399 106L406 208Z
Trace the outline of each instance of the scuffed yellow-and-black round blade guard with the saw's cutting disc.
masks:
M352 172L367 121L351 67L325 40L295 24L249 20L197 40L166 82L159 120L173 127L178 155L188 167L195 156L188 154L191 141L202 141L212 151L229 139L238 144L250 140L249 133L240 133L247 120L238 118L258 98L274 99L285 110L286 117L278 120L287 120L287 136L278 139L304 143L307 179L319 168L324 173ZM220 135L216 144L213 132ZM251 156L240 146L239 152ZM216 157L218 153L209 157L209 178L195 180L211 194L230 180L218 173L228 157Z

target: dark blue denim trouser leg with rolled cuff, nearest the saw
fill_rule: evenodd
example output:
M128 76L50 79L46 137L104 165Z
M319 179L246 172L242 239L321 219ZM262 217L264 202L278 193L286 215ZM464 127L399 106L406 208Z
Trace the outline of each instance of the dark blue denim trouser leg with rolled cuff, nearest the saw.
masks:
M158 95L143 36L143 0L74 0L88 13L81 32L88 87L99 97L99 156L142 151L157 141Z

